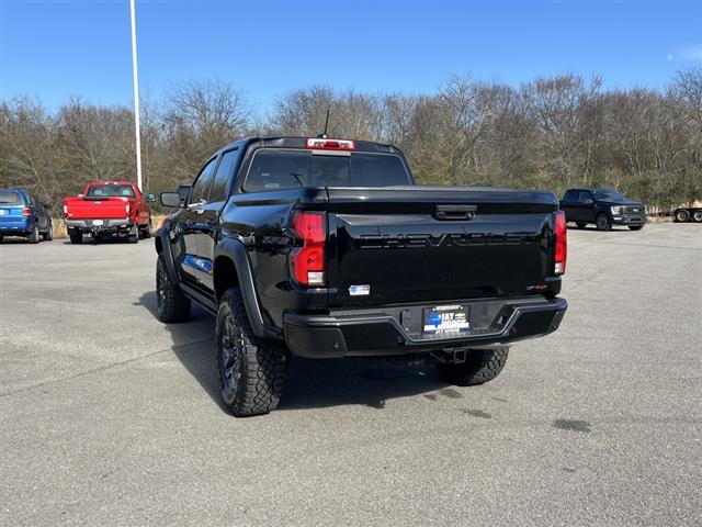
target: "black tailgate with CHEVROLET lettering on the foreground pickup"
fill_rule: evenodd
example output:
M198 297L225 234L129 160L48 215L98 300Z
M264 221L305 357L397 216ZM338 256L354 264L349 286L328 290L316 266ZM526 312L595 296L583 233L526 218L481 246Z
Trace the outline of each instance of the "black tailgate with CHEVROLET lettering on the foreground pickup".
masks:
M523 294L553 274L551 192L328 189L329 306Z

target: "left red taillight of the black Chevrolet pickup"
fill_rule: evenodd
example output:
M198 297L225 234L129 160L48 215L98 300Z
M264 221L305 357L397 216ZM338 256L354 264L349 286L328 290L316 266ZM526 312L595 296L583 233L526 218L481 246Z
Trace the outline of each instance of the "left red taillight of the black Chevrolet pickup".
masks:
M324 285L327 229L324 212L294 212L293 228L303 246L291 253L291 274L301 285Z

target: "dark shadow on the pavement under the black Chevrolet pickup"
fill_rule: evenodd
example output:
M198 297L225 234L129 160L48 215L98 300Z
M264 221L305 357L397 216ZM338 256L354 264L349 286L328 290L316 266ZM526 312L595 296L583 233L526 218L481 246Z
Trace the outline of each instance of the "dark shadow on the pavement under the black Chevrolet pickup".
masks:
M144 306L157 317L155 291L144 293L135 305ZM214 317L193 305L190 322L163 324L163 328L170 334L171 349L178 360L212 400L227 412L219 396ZM392 399L424 394L446 386L431 366L384 367L362 360L295 357L286 372L278 411L343 405L382 410ZM457 397L463 396L460 391L453 392Z

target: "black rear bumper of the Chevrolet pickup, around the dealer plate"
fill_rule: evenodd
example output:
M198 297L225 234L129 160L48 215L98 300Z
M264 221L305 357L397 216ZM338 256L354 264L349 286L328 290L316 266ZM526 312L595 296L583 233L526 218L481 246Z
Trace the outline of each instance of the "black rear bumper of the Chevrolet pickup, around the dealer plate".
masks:
M422 306L284 316L285 341L301 357L387 356L445 348L503 345L555 332L568 307L564 299L456 302L469 306L468 335L421 335ZM406 316L405 313L409 313ZM414 322L408 322L412 319ZM475 319L475 324L473 321Z

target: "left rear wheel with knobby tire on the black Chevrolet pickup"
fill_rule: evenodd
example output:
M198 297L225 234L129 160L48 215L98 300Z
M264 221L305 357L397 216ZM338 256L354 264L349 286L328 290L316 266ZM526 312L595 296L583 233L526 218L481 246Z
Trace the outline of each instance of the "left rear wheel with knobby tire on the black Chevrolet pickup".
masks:
M285 380L285 348L253 335L239 288L219 301L217 370L224 405L238 417L275 410Z

